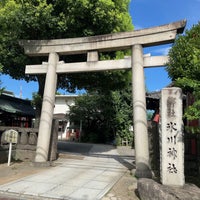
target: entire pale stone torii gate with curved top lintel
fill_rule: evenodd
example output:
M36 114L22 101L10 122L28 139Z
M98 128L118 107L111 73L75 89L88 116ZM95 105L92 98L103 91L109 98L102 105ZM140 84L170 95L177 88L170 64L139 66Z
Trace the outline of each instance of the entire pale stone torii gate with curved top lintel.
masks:
M48 159L57 74L116 70L132 68L133 122L135 134L135 158L138 177L151 177L146 117L144 67L164 66L167 56L144 56L143 47L172 43L182 33L186 21L137 31L107 35L55 40L23 40L25 54L48 56L41 65L27 65L26 74L46 74L42 113L35 162ZM98 61L99 52L131 49L132 56L120 60ZM64 63L59 55L87 54L87 62Z

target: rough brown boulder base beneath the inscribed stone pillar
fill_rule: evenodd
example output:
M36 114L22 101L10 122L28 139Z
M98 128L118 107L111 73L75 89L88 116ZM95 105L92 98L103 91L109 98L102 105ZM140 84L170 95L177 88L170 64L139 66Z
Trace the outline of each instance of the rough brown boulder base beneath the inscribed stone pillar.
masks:
M197 200L200 199L200 188L193 184L183 187L162 185L152 179L141 178L137 183L141 200Z

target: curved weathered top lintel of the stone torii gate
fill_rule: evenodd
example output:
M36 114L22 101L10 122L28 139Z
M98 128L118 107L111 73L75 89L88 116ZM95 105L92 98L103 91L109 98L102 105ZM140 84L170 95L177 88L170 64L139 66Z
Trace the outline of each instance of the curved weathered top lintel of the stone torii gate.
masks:
M185 25L186 20L181 20L152 28L106 35L55 40L21 40L20 45L30 56L44 56L50 52L69 55L84 54L88 51L115 51L130 49L135 44L147 47L172 43L177 33L183 32Z

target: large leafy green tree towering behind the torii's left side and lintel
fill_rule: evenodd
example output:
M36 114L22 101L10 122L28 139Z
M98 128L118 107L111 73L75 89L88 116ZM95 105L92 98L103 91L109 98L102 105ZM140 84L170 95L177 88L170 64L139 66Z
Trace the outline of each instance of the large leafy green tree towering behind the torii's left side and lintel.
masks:
M43 96L44 76L25 75L26 64L41 64L47 58L30 58L20 39L56 39L132 30L129 0L3 0L0 2L0 66L14 79L34 80ZM110 54L116 57L116 53ZM66 62L84 61L85 55L61 57ZM104 87L105 82L126 83L127 72L67 74L58 77L58 88ZM94 81L95 80L95 81ZM108 87L108 84L106 84ZM40 108L39 108L40 109Z

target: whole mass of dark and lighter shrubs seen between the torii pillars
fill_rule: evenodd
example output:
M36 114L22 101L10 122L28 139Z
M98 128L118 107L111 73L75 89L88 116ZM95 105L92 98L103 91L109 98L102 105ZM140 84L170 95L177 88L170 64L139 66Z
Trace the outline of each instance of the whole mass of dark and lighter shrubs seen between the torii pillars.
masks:
M70 120L82 120L84 137L87 142L111 142L115 138L133 139L129 128L132 125L131 92L113 91L83 95L70 108Z

